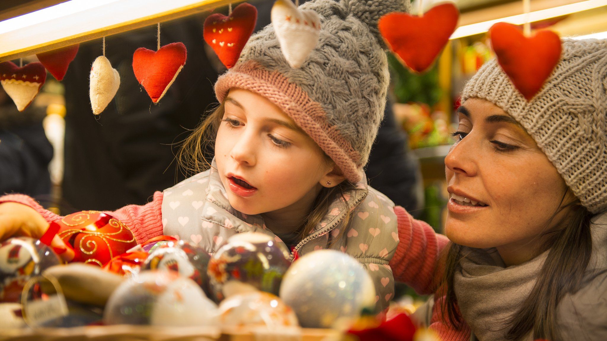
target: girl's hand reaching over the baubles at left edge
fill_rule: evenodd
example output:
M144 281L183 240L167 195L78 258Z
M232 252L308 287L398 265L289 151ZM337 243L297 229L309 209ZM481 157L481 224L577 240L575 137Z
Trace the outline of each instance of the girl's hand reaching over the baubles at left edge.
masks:
M49 223L35 209L19 203L0 204L0 241L19 236L39 239L48 228ZM58 235L50 246L64 261L73 259L73 250Z

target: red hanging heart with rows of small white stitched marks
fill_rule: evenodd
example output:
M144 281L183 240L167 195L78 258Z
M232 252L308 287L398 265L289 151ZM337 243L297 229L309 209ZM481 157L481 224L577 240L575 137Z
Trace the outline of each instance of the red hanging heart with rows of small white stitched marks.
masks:
M238 61L256 22L257 8L243 2L229 16L221 13L209 15L205 20L203 37L229 69Z

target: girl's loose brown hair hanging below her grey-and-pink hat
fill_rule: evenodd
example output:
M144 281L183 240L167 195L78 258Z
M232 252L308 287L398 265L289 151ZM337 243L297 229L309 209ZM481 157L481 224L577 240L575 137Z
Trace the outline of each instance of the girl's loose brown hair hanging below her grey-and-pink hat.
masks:
M217 129L219 129L223 114L225 113L224 108L224 104L222 103L215 109L212 109L211 113L203 118L200 121L200 124L198 124L198 126L192 130L192 133L183 141L183 143L181 143L181 147L177 152L177 164L186 175L197 174L211 168L211 163L207 160L205 155L214 154L215 136L217 135ZM322 152L320 147L318 147L318 149ZM322 153L324 154L324 152ZM327 163L333 163L333 160L331 160L327 154L324 155ZM336 243L336 241L347 231L354 214L354 210L345 199L345 194L348 194L348 192L351 192L356 188L356 185L348 180L344 180L334 187L322 187L319 194L314 199L311 211L304 220L302 220L302 223L296 230L299 234L299 240L314 231L316 226L320 224L322 218L327 215L331 204L338 198L341 198L342 200L339 201L343 204L342 209L346 210L342 212L349 213L342 221L342 226L345 228L341 228L339 235L331 240L331 245Z

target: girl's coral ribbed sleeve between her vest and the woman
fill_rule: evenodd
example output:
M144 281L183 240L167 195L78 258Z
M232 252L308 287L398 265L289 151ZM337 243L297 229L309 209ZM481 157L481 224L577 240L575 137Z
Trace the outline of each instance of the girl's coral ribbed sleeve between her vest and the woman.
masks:
M394 212L400 240L390 260L394 279L411 286L418 294L432 294L442 276L439 257L449 240L424 221L415 220L404 208L396 206Z

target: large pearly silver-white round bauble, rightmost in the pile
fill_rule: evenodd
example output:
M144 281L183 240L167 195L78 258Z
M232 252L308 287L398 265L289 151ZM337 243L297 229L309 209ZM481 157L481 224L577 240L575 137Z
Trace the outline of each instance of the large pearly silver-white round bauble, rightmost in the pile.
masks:
M343 252L319 250L300 257L285 274L280 298L302 327L331 328L375 306L375 286L361 263Z

